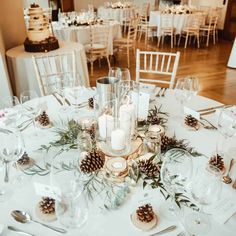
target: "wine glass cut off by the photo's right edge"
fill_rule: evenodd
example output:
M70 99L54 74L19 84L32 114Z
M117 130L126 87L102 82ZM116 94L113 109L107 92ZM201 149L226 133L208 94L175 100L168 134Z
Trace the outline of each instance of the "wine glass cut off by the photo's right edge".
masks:
M225 147L228 138L236 134L236 106L225 107L221 110L218 118L218 129L224 137L222 146Z

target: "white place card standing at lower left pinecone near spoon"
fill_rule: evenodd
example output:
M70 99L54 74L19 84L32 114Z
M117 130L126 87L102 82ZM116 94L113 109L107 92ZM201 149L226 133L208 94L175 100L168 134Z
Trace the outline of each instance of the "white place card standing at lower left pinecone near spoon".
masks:
M34 183L34 190L36 195L42 197L50 197L54 199L59 199L61 196L61 191L57 187L52 187L50 185L41 184L38 182Z

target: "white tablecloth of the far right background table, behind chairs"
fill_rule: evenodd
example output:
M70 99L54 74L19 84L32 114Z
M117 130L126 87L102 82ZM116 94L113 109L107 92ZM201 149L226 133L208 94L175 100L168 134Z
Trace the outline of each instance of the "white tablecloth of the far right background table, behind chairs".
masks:
M149 24L151 26L157 26L157 36L161 36L161 12L160 11L151 11L150 12L150 20ZM182 29L184 28L188 17L191 14L169 14L170 17L174 17L173 19L173 27L176 29L176 34L180 34Z

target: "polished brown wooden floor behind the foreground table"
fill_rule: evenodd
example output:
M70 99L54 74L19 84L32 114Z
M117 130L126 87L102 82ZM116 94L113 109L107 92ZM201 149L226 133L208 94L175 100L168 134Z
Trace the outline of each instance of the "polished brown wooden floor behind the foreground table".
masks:
M216 45L211 44L209 48L197 49L189 46L187 49L183 45L171 50L170 43L165 42L164 46L157 48L156 40L149 41L146 46L143 41L137 43L137 48L147 51L180 51L180 63L177 78L186 75L194 75L199 78L199 95L212 98L225 104L236 104L236 69L227 67L228 58L232 48L232 42L220 40ZM131 54L131 78L135 79L135 56ZM127 67L126 54L119 55L115 66ZM113 63L114 66L114 63ZM90 66L89 66L90 69ZM91 86L95 86L96 79L108 74L106 61L102 61L102 66L97 64L94 69L94 76L90 76Z

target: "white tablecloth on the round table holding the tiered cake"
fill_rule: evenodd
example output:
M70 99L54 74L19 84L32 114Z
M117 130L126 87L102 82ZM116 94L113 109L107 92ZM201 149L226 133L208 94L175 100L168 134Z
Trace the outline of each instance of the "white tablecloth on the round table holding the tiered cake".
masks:
M17 46L6 52L9 73L14 82L16 95L19 96L25 90L36 90L40 94L39 85L33 67L32 55L53 55L62 52L75 51L77 72L80 75L81 83L89 86L88 66L84 47L74 42L59 42L60 48L47 53L30 53L24 50L24 46Z

